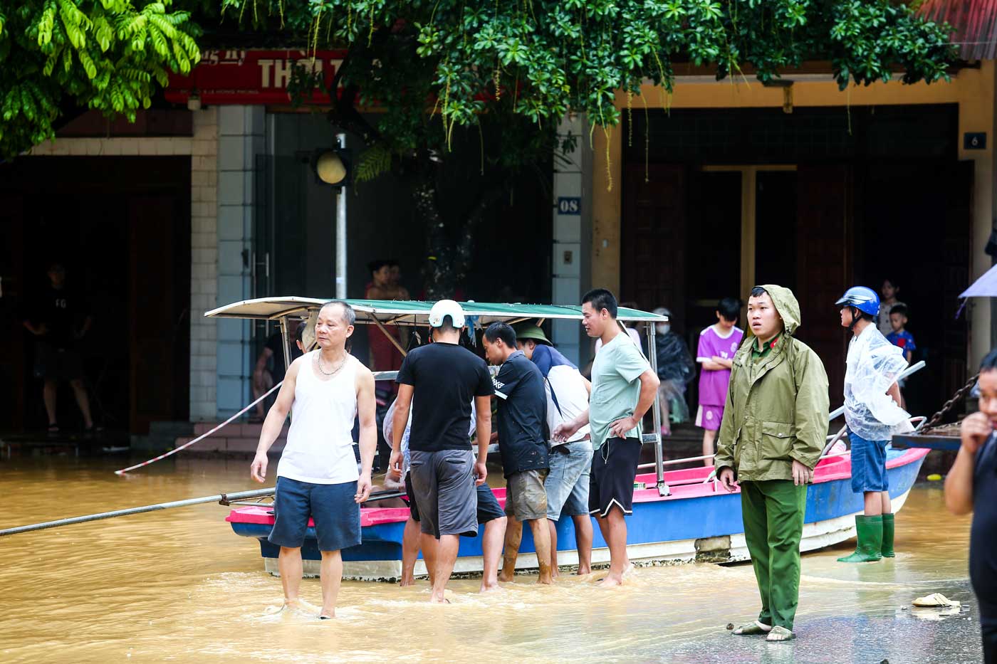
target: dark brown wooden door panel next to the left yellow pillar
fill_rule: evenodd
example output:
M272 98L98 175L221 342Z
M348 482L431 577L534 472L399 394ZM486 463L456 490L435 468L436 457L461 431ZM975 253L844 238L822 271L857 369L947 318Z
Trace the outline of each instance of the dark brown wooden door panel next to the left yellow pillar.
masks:
M620 245L620 301L650 311L665 306L675 325L685 315L685 166L626 167Z

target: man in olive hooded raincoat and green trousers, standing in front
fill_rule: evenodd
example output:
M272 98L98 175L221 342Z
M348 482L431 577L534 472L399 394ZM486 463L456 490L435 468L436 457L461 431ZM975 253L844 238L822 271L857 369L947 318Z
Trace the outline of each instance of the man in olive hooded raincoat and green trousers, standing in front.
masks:
M724 489L741 488L745 540L762 612L735 634L793 638L800 599L800 539L807 485L828 435L828 374L817 353L793 337L800 304L793 291L756 286L748 332L734 356L715 466Z

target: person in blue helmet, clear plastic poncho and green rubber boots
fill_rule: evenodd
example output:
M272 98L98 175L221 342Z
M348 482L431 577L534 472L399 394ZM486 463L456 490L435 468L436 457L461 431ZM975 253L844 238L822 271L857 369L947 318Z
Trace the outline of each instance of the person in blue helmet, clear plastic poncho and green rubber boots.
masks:
M853 286L834 304L840 307L841 327L852 335L845 360L844 423L851 440L851 491L865 502L864 513L855 514L855 551L837 560L870 562L893 557L886 446L893 433L910 427L896 384L907 361L876 327L879 296L874 290Z

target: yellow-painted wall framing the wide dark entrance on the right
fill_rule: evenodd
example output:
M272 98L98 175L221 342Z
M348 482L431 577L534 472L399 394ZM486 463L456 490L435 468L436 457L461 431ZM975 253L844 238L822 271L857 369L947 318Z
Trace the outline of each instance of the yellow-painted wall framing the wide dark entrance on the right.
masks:
M829 77L830 79L830 77ZM652 109L663 106L663 95L653 86L644 86L643 95ZM970 276L976 279L990 268L990 257L983 253L990 235L994 204L994 141L995 137L995 64L982 63L979 69L960 70L951 83L904 86L898 82L879 83L868 87L850 88L840 92L831 82L800 81L793 86L794 107L872 106L911 104L959 105L959 159L972 160L976 181L973 183L973 245ZM678 83L670 100L675 109L760 108L783 106L783 91L765 88L757 81L745 83ZM616 95L619 108L626 107L626 96ZM643 102L633 103L643 109ZM962 150L965 132L985 132L987 149ZM608 175L612 190L607 190L607 140L596 129L593 135L592 167L592 285L619 292L620 285L620 185L622 158L620 128L609 133ZM971 303L970 368L974 368L990 346L990 307L986 300Z

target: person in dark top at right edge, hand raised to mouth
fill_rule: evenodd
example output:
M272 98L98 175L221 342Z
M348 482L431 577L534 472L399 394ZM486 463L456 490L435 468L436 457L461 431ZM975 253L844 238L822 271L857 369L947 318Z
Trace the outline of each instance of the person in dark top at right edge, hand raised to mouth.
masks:
M997 664L997 350L980 364L980 411L962 421L962 445L945 477L945 505L973 512L969 579L976 593L983 661Z

